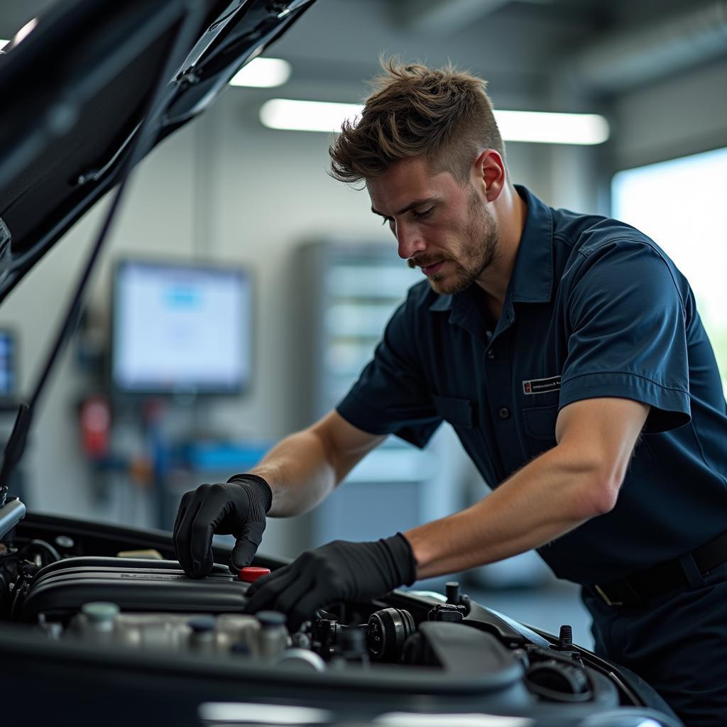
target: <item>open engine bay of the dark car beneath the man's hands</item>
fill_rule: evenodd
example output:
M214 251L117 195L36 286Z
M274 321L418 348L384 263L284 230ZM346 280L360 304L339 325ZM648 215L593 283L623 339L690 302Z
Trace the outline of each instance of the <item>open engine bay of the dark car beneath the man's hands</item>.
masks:
M574 720L660 707L638 678L574 646L569 627L557 637L536 632L472 601L456 582L446 595L394 591L332 604L291 632L277 611L244 613L249 582L222 564L227 550L215 546L212 574L190 579L170 549L169 534L29 516L0 544L0 629L12 624L49 648L81 648L86 659L103 654L112 668L115 659L148 666L153 658L186 665L190 678L196 670L204 679L209 667L237 679L274 677L292 691L307 683L319 701L355 684L361 708L394 693L497 714L565 710ZM282 564L258 560L262 571Z

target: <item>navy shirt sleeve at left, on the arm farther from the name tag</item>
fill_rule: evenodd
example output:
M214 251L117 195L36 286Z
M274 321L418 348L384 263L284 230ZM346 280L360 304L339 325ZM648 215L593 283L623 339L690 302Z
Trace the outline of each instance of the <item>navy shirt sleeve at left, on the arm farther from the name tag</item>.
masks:
M411 294L390 318L374 358L336 406L355 427L372 434L395 434L418 447L441 424L414 339L417 304Z

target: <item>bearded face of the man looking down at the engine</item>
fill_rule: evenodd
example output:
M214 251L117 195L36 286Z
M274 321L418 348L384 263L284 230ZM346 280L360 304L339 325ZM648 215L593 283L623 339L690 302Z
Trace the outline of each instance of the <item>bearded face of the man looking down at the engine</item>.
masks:
M497 257L497 221L473 185L460 185L451 172L432 172L424 158L404 159L367 188L399 257L420 268L435 292L462 292Z

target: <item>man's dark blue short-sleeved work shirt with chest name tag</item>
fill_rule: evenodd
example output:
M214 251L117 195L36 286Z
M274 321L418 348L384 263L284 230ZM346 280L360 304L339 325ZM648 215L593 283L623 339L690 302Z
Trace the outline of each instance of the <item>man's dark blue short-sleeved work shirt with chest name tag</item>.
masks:
M413 286L337 411L419 447L446 419L497 486L555 446L563 406L649 404L614 509L538 549L559 577L593 585L727 530L727 404L694 294L659 246L517 190L527 220L499 320L474 284Z

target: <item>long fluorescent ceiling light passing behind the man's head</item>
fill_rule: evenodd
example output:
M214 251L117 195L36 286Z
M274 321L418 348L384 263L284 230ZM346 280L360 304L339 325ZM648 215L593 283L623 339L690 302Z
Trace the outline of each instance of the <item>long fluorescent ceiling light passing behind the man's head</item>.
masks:
M260 108L260 121L270 129L339 132L344 119L360 116L356 103L327 103L273 98ZM608 139L608 121L595 113L495 111L505 141L542 144L601 144Z

